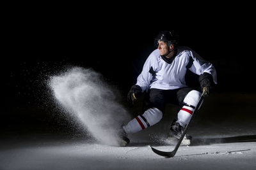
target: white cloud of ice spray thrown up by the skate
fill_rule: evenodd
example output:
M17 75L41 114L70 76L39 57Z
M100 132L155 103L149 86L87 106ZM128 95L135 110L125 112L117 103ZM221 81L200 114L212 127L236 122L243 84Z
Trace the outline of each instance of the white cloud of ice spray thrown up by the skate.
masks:
M76 117L100 143L118 145L118 131L129 114L101 77L92 69L72 67L52 76L49 86L61 107Z

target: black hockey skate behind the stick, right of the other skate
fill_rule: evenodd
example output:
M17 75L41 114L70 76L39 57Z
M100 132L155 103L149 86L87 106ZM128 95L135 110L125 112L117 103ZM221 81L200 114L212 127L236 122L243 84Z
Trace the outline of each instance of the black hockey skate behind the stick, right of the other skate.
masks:
M170 128L170 132L169 132L169 137L168 139L170 141L179 141L181 135L182 135L182 130L184 129L184 127L182 127L178 122L173 122ZM191 144L191 139L192 136L190 136L189 134L186 134L184 136L184 138L182 139L182 142L180 143L180 145L190 145Z

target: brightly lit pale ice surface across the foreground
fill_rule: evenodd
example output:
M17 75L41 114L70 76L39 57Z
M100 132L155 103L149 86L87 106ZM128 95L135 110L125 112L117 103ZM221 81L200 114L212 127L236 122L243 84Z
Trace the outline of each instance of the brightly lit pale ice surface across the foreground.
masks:
M83 143L44 143L0 150L0 169L255 169L255 143L180 146L166 159L148 145L116 147ZM172 146L159 146L170 150Z

